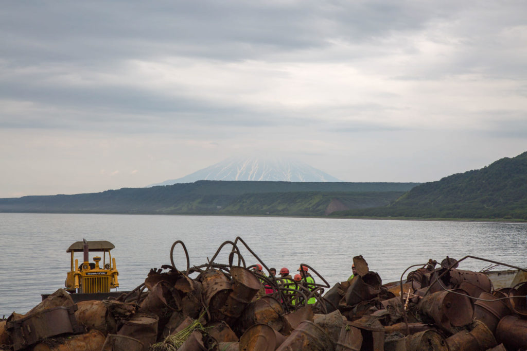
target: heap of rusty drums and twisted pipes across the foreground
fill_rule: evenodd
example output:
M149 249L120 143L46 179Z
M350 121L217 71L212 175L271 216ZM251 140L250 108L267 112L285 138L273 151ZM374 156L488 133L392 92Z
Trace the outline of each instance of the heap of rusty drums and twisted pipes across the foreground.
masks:
M178 244L187 258L186 270L174 265ZM170 265L151 269L144 284L117 299L74 304L59 289L27 314L13 313L0 321L0 349L527 348L527 282L493 289L482 272L457 269L465 258L476 257L446 258L441 264L430 260L409 272L404 282L401 278L383 285L364 258L356 256L353 279L330 288L306 264L300 267L308 267L316 281L324 284L291 285L281 278L255 274L241 255L241 245L251 253L251 260L269 271L241 238L222 243L207 264L193 267L183 242L176 241ZM215 262L225 247L231 248L228 262ZM265 294L264 286L272 292ZM313 298L316 303L307 304Z

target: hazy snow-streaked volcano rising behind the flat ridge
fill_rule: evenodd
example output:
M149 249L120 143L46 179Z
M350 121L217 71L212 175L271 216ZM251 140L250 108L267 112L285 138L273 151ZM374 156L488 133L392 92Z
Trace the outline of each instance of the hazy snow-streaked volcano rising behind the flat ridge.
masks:
M197 180L257 180L289 182L339 182L310 165L285 158L262 159L229 158L225 161L203 168L188 176L167 180L151 186L171 185L174 183L192 183Z

